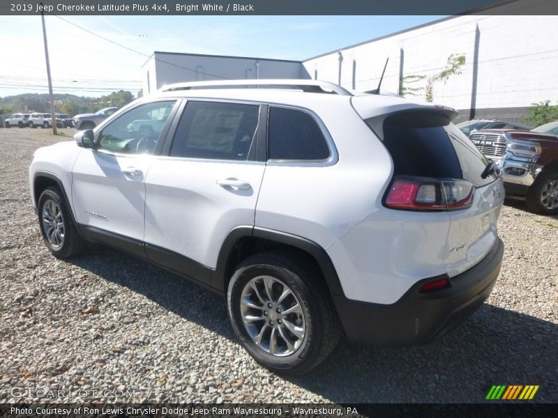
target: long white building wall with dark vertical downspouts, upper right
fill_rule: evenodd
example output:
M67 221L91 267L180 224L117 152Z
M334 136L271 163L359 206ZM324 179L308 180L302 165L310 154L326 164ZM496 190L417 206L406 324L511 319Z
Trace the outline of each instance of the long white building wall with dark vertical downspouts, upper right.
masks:
M469 109L472 100L475 31L480 31L476 109L526 107L541 100L558 100L558 16L453 17L412 31L363 45L347 47L343 55L341 85L352 88L352 61L356 61L357 90L377 87L389 57L382 89L397 92L400 49L403 76L439 73L451 54L465 55L460 75L434 85L434 101L456 109ZM303 62L312 78L338 82L338 52ZM425 86L425 82L406 84ZM409 96L410 97L410 96ZM421 95L421 98L424 96Z

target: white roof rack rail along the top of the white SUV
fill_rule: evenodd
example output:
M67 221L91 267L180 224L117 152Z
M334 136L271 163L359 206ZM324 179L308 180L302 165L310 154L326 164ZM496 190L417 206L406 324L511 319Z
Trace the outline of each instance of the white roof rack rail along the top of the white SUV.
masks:
M221 88L226 86L284 86L300 88L306 93L337 93L338 95L352 95L348 90L330 82L305 79L240 79L216 80L209 82L188 82L167 84L159 91L191 90L193 88ZM330 91L328 91L330 90Z

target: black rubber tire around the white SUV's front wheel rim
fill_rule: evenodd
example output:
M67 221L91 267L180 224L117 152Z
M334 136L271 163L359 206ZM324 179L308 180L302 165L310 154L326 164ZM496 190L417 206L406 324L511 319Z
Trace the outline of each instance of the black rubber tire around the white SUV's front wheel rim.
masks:
M47 231L49 231L49 227L47 226L45 219L48 220L50 217L50 215L48 215L48 212L50 211L50 202L55 203L59 208L59 211L53 210L52 215L57 215L61 212L63 232L58 233L57 235L58 237L61 236L60 245L55 245L53 243L54 239L47 238ZM38 200L38 222L45 245L56 258L69 258L77 256L77 254L80 254L84 250L86 242L80 236L80 233L77 232L72 215L70 214L66 201L64 201L58 187L47 187L43 190L43 193L40 194ZM52 236L55 236L56 233L52 234Z

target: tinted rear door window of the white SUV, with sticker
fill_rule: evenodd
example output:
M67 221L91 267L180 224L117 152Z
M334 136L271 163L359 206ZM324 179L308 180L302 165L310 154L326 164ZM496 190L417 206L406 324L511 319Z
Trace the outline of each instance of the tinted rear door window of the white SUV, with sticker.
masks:
M259 106L255 104L188 102L170 156L247 160L258 118Z

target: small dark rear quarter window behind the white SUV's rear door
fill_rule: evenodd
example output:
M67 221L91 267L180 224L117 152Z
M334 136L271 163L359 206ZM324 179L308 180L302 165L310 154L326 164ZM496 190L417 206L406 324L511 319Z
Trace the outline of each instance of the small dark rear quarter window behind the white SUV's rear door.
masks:
M282 107L269 109L269 160L326 160L329 147L310 114Z

